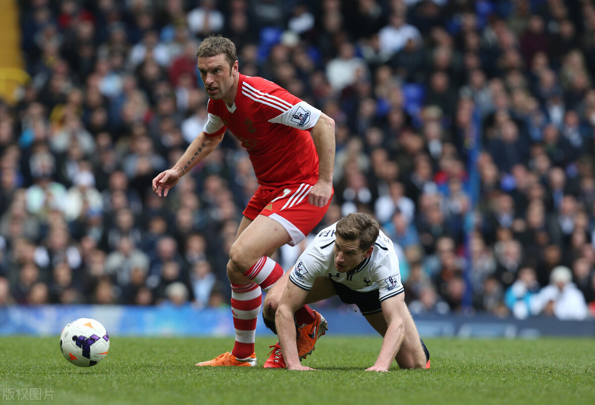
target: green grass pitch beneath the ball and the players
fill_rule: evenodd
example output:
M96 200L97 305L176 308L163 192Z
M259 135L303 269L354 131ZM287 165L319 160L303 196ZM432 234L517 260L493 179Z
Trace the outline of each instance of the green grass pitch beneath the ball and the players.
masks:
M0 403L595 403L595 339L424 340L430 370L393 363L390 372L375 373L364 370L374 363L380 337L321 338L303 360L317 372L263 369L273 335L256 338L257 368L194 366L230 350L233 338L112 337L105 360L79 368L62 357L58 337L0 337ZM42 400L10 397L32 388Z

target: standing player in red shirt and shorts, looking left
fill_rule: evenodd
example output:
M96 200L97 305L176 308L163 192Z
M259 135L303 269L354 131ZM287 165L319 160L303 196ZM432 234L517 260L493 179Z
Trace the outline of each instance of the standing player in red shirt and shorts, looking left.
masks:
M236 341L233 350L198 366L255 366L256 319L267 291L283 268L268 257L295 245L321 221L333 195L334 121L277 84L239 73L236 46L207 37L196 51L209 96L208 121L179 161L157 175L153 190L171 187L202 161L228 128L248 150L259 186L243 211L230 249L227 276ZM311 353L326 321L303 306L296 312L300 358ZM274 330L274 325L267 325Z

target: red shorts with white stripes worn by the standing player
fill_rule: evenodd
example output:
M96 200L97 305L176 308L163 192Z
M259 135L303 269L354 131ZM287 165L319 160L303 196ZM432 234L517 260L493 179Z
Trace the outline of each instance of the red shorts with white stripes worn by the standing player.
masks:
M289 244L295 246L318 225L330 205L331 199L324 207L308 203L310 189L306 183L279 189L258 186L243 214L252 220L261 214L279 222L292 238Z

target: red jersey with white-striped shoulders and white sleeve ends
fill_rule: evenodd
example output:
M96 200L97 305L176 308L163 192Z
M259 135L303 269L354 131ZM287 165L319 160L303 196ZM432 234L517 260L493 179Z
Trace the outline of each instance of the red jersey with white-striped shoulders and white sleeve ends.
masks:
M208 102L207 136L229 128L248 150L256 179L263 186L315 184L318 153L309 130L321 111L262 77L240 74L234 105Z

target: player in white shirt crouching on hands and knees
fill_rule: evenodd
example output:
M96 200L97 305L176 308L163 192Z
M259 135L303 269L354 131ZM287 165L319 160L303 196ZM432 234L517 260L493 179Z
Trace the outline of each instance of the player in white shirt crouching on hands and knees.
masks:
M267 325L275 319L279 343L265 368L312 370L300 363L293 316L303 304L335 295L356 304L384 337L367 371L388 371L393 359L400 368L430 368L430 354L405 305L393 242L363 213L349 214L320 231L267 294L263 316Z

